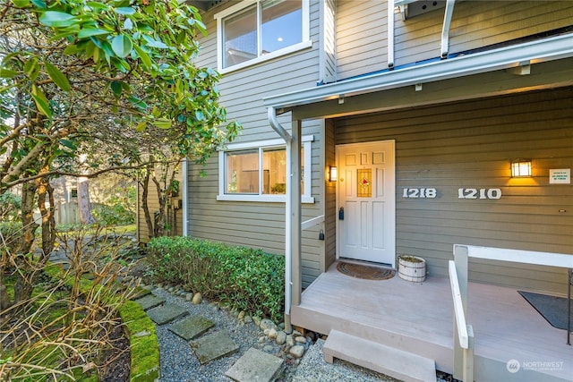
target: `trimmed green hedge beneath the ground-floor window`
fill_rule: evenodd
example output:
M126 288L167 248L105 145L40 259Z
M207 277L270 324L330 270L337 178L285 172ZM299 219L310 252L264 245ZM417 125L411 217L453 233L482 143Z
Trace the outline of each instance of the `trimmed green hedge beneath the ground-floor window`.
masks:
M181 236L154 238L148 249L155 282L183 284L232 309L282 318L284 257Z

